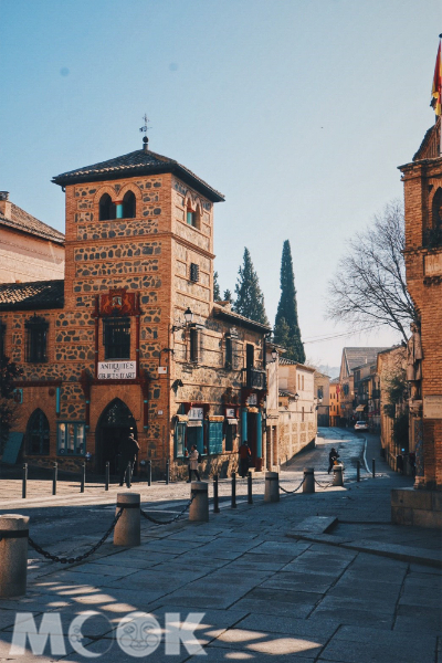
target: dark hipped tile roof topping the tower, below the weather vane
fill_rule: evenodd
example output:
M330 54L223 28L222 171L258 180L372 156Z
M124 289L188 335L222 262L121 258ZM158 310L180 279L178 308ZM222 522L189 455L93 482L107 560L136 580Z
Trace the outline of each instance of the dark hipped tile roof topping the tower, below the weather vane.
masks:
M55 185L62 187L77 182L93 182L123 177L139 177L140 175L155 175L172 172L179 179L203 193L212 202L221 202L224 196L200 179L194 172L181 166L175 159L164 157L150 150L137 149L128 155L115 157L107 161L84 166L67 172L62 172L52 178Z

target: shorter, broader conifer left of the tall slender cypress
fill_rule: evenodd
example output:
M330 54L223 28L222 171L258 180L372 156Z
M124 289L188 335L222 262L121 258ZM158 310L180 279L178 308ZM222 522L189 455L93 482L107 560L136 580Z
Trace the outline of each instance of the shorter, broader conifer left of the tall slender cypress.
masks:
M269 319L264 307L264 295L262 294L257 274L254 271L250 251L244 248L243 265L238 272L235 285L236 299L233 304L233 311L244 317L269 325Z

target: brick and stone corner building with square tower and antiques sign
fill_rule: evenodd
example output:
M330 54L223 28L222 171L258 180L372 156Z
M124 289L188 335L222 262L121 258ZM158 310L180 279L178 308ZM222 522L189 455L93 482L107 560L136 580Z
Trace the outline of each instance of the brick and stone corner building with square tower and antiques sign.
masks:
M116 472L139 460L172 475L197 444L208 472L241 439L265 463L270 328L213 303L213 206L223 196L144 149L53 178L65 191L65 276L0 286L2 351L23 368L8 444L31 463Z

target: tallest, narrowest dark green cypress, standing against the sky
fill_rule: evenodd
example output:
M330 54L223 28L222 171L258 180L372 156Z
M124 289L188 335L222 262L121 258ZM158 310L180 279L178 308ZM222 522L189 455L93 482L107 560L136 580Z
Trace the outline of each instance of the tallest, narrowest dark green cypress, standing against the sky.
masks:
M282 345L287 351L286 359L304 364L304 344L301 340L301 329L297 320L297 304L295 290L295 275L290 241L285 240L281 259L281 298L277 305L275 328L273 336L275 343Z

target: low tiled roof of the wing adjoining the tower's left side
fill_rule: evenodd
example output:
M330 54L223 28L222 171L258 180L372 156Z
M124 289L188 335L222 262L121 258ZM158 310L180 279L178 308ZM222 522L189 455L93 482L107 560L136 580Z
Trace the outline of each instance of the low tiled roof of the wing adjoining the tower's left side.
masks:
M64 280L0 284L0 311L62 308Z

